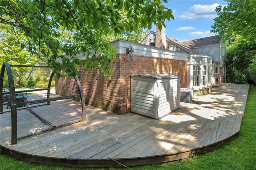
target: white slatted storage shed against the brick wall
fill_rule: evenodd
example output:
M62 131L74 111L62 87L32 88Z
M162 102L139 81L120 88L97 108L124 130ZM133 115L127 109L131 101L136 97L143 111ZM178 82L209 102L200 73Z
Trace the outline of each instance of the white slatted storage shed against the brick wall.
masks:
M159 119L180 108L180 76L131 75L131 111Z

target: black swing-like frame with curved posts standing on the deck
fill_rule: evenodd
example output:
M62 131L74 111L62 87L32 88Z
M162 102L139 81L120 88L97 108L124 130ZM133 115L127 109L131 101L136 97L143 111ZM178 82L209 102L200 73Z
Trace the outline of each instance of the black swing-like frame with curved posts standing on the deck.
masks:
M47 125L49 125L51 127L50 129L46 129L44 131L41 131L40 133L50 131L52 129L64 127L64 126L67 126L67 125L70 125L70 124L73 124L73 123L77 123L79 121L85 121L86 115L85 115L84 94L83 94L83 91L82 91L82 86L81 86L80 81L78 80L77 76L75 76L74 79L76 80L76 84L78 86L79 94L74 94L74 95L71 95L71 96L62 96L62 97L50 98L50 87L51 87L51 83L52 83L52 78L54 76L54 74L51 74L49 82L48 82L48 88L19 91L19 92L34 92L34 91L47 90L47 98L46 99L17 103L16 102L16 96L15 96L14 79L13 79L11 66L14 66L14 67L39 67L39 68L50 68L50 67L49 66L10 65L8 63L3 63L2 64L2 68L1 68L1 72L0 72L0 114L4 113L3 112L3 95L4 94L5 95L10 95L10 98L11 98L11 119L12 119L11 120L11 123L12 123L11 144L12 145L16 144L17 141L20 140L20 139L24 139L24 138L27 138L27 137L38 134L38 133L33 133L33 134L30 134L30 135L26 135L24 137L17 138L17 131L18 131L18 129L17 129L17 107L19 107L19 106L27 106L27 105L40 104L40 103L45 103L45 102L47 102L47 105L49 105L50 102L52 102L52 101L80 97L81 104L82 104L82 119L80 119L78 121L75 121L75 122L59 125L58 127L56 127L55 125L50 123L50 121L44 119L44 117L40 116L35 111L33 111L32 107L37 107L37 106L32 106L32 107L27 106L26 108L22 108L22 109L28 109L34 115L36 115L40 120L42 120L44 123L46 123ZM3 92L3 80L4 80L4 70L5 70L5 68L6 68L6 71L7 71L7 74L8 74L10 92ZM42 104L42 105L46 105L46 104ZM39 105L39 106L42 106L42 105ZM5 111L5 112L10 112L10 111Z

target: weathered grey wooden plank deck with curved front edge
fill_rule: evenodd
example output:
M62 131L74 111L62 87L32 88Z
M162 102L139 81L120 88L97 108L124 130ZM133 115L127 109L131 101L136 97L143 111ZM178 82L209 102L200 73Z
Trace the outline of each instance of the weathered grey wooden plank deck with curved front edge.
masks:
M10 145L11 118L10 113L4 113L0 115L0 149L21 160L73 167L134 166L184 159L238 137L248 88L247 84L222 84L211 94L198 97L199 104L182 103L181 109L160 120L86 106L85 122L46 133L40 131L49 126L23 109L18 111L18 137L40 134L16 145ZM61 100L33 109L58 127L81 119L80 106L74 100Z

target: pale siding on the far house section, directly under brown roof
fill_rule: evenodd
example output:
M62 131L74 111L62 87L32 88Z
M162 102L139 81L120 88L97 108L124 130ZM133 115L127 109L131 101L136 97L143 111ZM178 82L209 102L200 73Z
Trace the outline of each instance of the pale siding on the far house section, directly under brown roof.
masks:
M211 55L212 59L220 62L220 55L219 55L219 45L214 45L214 46L210 46L210 47L198 47L198 48L194 48L193 50L202 53L202 54L207 54L207 55Z

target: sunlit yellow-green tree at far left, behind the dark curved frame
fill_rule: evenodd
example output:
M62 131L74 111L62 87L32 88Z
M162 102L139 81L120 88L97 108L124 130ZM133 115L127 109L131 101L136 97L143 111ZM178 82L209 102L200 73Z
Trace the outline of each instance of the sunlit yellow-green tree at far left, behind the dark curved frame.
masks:
M13 27L0 23L0 64L8 62L9 64L27 65L40 64L42 61L27 49L22 49L20 43L28 43L28 39L23 33L14 31ZM26 82L33 72L29 67L12 67L14 81L16 86Z

